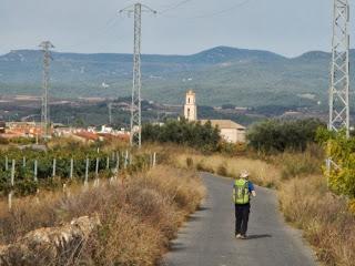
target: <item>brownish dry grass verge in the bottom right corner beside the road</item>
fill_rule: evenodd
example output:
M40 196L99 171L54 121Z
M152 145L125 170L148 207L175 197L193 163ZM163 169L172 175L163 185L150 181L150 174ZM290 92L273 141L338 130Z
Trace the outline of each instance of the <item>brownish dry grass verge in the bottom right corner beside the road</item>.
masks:
M326 265L355 265L355 216L345 198L327 192L323 176L313 175L285 182L280 192L287 221L304 229Z

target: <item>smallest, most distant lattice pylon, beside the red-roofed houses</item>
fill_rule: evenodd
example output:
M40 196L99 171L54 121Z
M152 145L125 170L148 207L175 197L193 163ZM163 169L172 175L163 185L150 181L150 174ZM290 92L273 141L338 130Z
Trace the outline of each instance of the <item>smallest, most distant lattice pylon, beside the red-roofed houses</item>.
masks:
M42 110L41 110L41 125L42 125L42 134L43 137L49 136L49 106L48 106L48 91L49 91L49 66L51 61L50 49L54 48L54 45L50 41L43 41L40 44L43 51L43 81L42 81Z

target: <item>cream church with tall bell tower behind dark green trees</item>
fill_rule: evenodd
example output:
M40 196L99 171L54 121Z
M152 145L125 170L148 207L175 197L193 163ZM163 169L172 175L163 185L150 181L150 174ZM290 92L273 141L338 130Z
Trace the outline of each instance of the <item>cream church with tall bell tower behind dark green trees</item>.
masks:
M196 94L190 90L186 92L184 116L187 121L197 121ZM231 143L245 142L246 127L232 120L199 120L202 124L211 121L212 126L219 126L221 136Z

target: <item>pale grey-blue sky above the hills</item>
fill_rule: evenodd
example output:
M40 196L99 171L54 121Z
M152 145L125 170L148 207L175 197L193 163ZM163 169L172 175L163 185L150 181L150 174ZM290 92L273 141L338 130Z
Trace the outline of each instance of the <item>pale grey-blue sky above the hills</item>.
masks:
M0 0L0 54L38 49L131 53L130 0ZM144 0L142 53L193 54L217 45L297 57L331 50L333 0ZM353 7L352 7L353 11ZM355 11L355 10L354 10ZM355 13L355 12L351 12ZM354 32L355 21L351 32ZM353 43L354 38L351 38Z

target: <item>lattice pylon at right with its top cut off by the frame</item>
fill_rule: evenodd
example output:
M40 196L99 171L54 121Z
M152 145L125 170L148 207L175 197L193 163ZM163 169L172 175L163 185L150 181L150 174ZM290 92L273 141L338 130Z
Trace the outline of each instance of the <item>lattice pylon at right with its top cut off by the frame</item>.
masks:
M349 4L334 0L333 57L329 90L328 130L346 130L349 135Z

